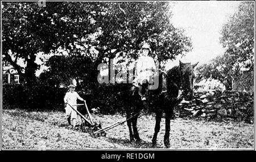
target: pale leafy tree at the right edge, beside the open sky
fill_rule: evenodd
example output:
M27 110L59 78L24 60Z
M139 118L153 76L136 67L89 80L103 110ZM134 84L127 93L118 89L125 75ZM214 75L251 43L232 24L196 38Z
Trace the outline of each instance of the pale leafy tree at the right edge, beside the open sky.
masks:
M239 65L253 70L254 67L254 2L241 2L238 10L221 30L221 44L226 48L229 60L235 69Z

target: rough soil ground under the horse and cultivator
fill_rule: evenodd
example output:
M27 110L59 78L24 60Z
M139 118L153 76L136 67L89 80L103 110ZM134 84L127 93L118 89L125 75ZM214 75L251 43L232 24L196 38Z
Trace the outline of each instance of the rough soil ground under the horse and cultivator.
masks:
M125 120L120 114L93 115L102 127ZM79 122L81 119L79 118ZM2 110L3 149L165 149L164 118L158 135L158 146L151 147L155 117L144 115L138 120L141 143L129 141L124 123L108 130L106 137L92 137L89 133L68 126L64 112L28 112L20 109ZM254 125L244 122L205 122L176 118L171 121L170 149L254 149Z

